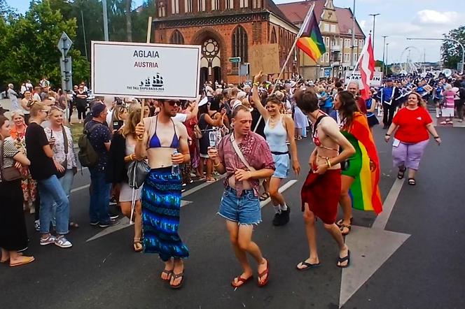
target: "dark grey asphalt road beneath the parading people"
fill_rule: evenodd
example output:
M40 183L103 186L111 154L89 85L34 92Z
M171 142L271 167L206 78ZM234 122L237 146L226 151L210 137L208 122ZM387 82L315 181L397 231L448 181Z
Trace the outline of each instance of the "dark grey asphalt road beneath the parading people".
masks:
M431 140L417 173L417 186L403 184L387 221L387 231L410 237L375 269L344 308L463 308L465 209L461 172L465 131L438 131L443 145L438 147ZM383 134L379 127L375 129L384 199L395 182L396 171ZM338 249L321 222L317 224L321 267L303 273L295 269L308 254L300 187L312 149L309 138L298 142L303 172L284 192L292 209L291 222L273 227L272 207L262 208L263 222L256 228L254 240L270 261L267 287L252 283L234 290L230 286L241 270L224 221L216 215L221 182L183 198L192 202L182 208L180 228L190 257L185 263L184 285L176 291L160 280L162 262L157 256L132 252L132 227L86 241L102 229L88 224L89 198L84 187L71 194L71 215L81 227L69 233L74 245L70 249L41 247L39 233L32 229L32 215L27 215L28 253L34 254L36 261L18 268L0 265L0 308L338 308L342 275L335 266ZM76 176L74 187L82 188L88 182L88 173L83 171ZM354 213L354 225L359 229L370 228L374 221L373 213ZM376 245L381 249L389 244Z

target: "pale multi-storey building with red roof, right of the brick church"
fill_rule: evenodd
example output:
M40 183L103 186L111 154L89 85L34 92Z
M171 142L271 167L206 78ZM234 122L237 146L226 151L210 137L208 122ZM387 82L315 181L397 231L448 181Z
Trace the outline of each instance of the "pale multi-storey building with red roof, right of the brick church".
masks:
M345 71L354 68L365 43L365 35L359 23L354 20L352 10L335 7L333 0L284 3L279 4L278 8L293 24L300 27L313 3L326 53L314 62L305 53L299 52L300 75L310 79L341 78ZM355 34L353 48L352 31Z

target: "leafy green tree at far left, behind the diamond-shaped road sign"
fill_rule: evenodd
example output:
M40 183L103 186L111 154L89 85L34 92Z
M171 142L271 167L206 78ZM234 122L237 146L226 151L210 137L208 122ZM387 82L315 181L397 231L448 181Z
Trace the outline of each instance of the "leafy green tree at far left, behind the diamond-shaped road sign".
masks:
M60 10L53 10L48 1L32 1L29 11L18 18L0 22L0 80L15 85L24 80L39 82L50 78L55 87L61 85L60 57L57 42L65 31L76 39L76 18L64 20ZM69 55L73 59L73 79L87 80L90 65L76 48Z

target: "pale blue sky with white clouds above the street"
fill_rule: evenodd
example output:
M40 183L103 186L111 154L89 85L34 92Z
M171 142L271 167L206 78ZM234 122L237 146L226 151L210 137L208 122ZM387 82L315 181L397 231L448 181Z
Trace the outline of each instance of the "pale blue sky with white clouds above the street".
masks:
M29 0L6 0L19 13L29 8ZM134 8L143 0L133 0ZM275 0L275 3L289 3L295 0ZM353 0L334 0L335 6L352 8ZM368 36L373 29L373 17L380 13L375 22L375 58L382 59L382 36L388 36L386 43L389 63L405 62L408 51L414 62L440 61L442 41L408 41L406 38L442 38L451 29L465 22L464 0L356 0L355 17Z

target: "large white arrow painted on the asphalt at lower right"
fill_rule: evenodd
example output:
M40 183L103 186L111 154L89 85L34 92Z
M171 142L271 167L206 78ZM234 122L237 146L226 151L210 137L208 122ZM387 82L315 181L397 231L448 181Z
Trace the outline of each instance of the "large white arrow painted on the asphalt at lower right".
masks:
M383 210L371 228L356 227L345 238L350 249L350 267L342 268L339 308L398 250L410 234L385 231L387 221L405 180L397 179L383 203Z

